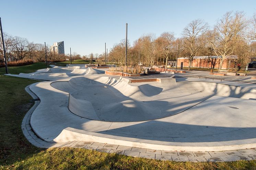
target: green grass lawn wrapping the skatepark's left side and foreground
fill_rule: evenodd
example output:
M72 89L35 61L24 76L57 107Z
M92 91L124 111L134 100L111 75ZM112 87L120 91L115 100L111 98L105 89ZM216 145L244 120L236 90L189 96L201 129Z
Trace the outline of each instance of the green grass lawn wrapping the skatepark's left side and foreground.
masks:
M34 72L45 63L10 67L10 73ZM21 122L32 107L25 87L35 80L4 76L0 69L0 169L172 169L172 170L256 170L256 161L172 162L107 154L82 148L40 149L23 136Z

